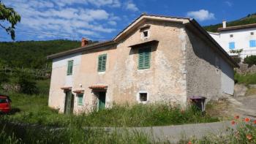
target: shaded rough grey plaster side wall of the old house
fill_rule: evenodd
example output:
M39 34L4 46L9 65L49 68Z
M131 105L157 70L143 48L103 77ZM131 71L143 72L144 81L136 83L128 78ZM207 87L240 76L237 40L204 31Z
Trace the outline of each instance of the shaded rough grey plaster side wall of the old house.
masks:
M197 34L187 31L187 96L206 96L217 99L222 96L221 70L217 69L222 59Z

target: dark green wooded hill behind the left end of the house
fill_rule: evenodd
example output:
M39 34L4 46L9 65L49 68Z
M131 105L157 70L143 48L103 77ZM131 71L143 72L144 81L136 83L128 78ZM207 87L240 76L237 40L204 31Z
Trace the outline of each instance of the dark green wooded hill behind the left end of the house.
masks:
M92 43L90 41L90 43ZM50 40L0 42L0 65L44 69L51 67L46 56L80 47L80 41Z

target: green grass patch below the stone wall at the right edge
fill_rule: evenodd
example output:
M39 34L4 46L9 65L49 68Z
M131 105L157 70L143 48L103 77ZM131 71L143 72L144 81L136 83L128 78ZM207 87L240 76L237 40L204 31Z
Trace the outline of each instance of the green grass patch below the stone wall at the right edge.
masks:
M235 73L234 80L236 83L244 83L246 85L256 84L256 74L240 75Z

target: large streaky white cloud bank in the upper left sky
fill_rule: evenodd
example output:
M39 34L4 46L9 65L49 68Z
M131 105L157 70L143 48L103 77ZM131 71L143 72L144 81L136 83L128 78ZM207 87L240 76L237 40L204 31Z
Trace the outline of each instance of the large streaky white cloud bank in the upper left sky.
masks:
M17 26L18 29L43 31L49 34L38 36L39 38L54 37L50 34L101 37L101 34L116 31L113 26L116 20L120 20L113 13L99 8L120 7L121 3L118 0L20 0L15 3L4 1L4 4L15 8L20 13L21 21ZM72 4L78 4L78 6L72 7ZM85 4L95 6L85 8Z

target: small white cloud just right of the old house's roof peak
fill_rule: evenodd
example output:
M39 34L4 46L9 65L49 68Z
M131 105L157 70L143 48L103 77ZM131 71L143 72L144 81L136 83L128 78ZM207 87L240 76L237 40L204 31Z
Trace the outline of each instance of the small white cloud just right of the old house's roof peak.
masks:
M214 13L208 12L208 10L187 12L187 17L195 18L196 20L200 21L215 19Z

